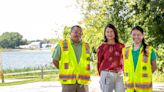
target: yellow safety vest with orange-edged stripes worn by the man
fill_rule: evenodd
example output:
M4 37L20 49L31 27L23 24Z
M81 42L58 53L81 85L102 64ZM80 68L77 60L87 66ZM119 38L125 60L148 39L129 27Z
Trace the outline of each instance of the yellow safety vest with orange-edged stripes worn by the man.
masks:
M88 84L90 82L90 47L82 42L82 53L77 63L70 40L60 41L59 80L61 84Z

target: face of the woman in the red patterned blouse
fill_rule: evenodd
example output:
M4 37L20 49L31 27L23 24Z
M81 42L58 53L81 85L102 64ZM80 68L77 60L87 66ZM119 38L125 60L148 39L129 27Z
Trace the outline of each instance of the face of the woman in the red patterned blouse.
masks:
M105 36L108 40L114 40L115 34L112 28L107 27L105 30Z

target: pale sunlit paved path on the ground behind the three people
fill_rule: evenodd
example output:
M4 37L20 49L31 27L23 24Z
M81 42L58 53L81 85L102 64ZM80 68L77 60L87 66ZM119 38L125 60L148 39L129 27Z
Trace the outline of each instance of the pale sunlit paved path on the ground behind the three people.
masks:
M89 92L101 92L99 88L99 77L91 77ZM153 92L164 92L164 83L154 83ZM1 86L0 92L61 92L59 82L35 82L14 86Z

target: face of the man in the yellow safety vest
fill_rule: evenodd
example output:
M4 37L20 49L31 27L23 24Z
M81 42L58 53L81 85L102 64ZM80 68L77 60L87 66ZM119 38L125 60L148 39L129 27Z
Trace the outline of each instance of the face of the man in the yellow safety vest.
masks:
M83 35L82 30L78 27L74 27L71 31L71 39L73 42L77 43L81 40L81 37Z

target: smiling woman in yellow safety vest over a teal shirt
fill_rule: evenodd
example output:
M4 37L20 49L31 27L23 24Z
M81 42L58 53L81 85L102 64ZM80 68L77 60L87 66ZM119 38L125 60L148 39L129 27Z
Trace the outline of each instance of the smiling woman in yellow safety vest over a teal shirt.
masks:
M139 26L131 31L133 45L123 49L126 92L152 92L152 73L156 70L156 53L144 42Z

